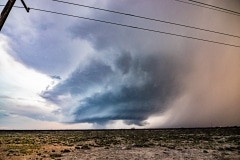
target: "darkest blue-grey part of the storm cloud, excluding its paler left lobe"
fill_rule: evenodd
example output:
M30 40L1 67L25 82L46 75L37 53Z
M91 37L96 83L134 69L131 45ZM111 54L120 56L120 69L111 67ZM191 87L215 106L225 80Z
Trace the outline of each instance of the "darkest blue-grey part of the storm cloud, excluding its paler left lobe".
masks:
M164 103L174 96L177 89L175 77L171 75L176 71L175 64L166 57L144 57L139 61L132 60L130 65L132 82L126 81L116 88L81 100L73 112L76 122L125 120L127 124L143 125L150 115L164 111ZM121 83L121 76L127 77L128 69L125 66L119 69L122 75L117 82ZM140 84L134 84L139 81Z

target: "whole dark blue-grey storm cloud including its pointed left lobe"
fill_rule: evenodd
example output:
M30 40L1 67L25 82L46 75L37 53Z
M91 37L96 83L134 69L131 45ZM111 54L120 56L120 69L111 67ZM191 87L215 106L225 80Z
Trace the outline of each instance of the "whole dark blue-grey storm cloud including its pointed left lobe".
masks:
M78 103L68 112L69 123L124 120L144 125L150 115L163 112L164 103L177 93L176 63L159 55L133 58L123 52L109 65L93 60L42 97L55 103L62 94L75 97Z

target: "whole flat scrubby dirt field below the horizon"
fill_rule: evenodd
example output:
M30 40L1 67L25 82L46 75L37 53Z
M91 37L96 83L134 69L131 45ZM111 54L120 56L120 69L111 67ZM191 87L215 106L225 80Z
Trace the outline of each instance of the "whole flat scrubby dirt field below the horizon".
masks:
M0 131L0 160L240 160L240 128Z

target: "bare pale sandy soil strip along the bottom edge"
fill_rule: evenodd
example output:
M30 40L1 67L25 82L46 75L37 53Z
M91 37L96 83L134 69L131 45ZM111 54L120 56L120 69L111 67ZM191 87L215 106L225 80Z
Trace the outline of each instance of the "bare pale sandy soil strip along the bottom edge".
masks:
M151 148L93 148L71 151L70 153L46 152L22 156L7 156L9 160L58 159L58 160L239 160L240 156L231 152L222 154L214 150Z

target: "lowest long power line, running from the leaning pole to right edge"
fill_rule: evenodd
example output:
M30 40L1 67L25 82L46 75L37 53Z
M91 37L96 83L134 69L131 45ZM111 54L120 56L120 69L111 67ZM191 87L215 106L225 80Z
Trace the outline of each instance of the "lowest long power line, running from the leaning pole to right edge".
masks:
M14 6L14 7L23 8L23 7L19 7L19 6ZM149 32L154 32L154 33L159 33L159 34L166 34L166 35L171 35L171 36L176 36L176 37L182 37L182 38L187 38L187 39L193 39L193 40L198 40L198 41L204 41L204 42L215 43L215 44L219 44L219 45L225 45L225 46L240 48L240 46L234 45L234 44L223 43L223 42L207 40L207 39L191 37L191 36L185 36L185 35L181 35L181 34L163 32L163 31L159 31L159 30L153 30L153 29L142 28L142 27L137 27L137 26L125 25L125 24L121 24L121 23L115 23L115 22L109 22L109 21L98 20L98 19L93 19L93 18L81 17L81 16L72 15L72 14L56 12L56 11L49 11L49 10L44 10L44 9L39 9L39 8L30 8L30 9L35 10L35 11L40 11L40 12L46 12L46 13L52 13L52 14L57 14L57 15L63 15L63 16L68 16L68 17L74 17L74 18L79 18L79 19L95 21L95 22L101 22L101 23L106 23L106 24L111 24L111 25L116 25L116 26L121 26L121 27L126 27L126 28L138 29L138 30L149 31Z

